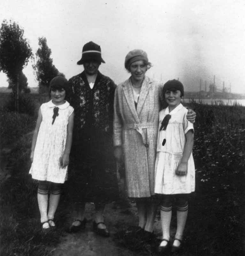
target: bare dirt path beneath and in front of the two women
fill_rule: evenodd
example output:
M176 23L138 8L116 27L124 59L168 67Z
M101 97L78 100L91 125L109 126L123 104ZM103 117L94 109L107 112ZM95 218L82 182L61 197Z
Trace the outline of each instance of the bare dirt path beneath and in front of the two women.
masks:
M94 205L86 205L86 218L88 220L85 230L76 234L68 234L61 238L60 244L54 249L54 256L131 256L137 255L126 248L119 247L114 241L114 234L120 229L120 223L126 225L138 225L136 207L132 204L130 210L107 204L105 207L105 221L110 231L109 238L101 237L93 232L92 222L94 216ZM72 216L69 217L72 222ZM67 223L69 226L69 223ZM156 225L157 227L157 225Z

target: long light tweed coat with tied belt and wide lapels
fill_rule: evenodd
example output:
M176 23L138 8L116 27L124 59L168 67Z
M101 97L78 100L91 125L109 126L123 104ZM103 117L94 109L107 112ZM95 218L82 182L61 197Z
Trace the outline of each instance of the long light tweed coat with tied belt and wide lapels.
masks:
M130 78L119 84L114 98L114 146L124 151L126 189L129 197L154 195L158 113L163 84L145 76L134 105Z

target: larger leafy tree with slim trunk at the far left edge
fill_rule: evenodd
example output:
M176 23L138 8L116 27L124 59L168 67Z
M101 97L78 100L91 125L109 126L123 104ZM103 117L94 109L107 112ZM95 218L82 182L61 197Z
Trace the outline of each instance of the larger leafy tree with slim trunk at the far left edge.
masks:
M16 111L19 108L19 73L32 56L32 49L23 34L24 30L17 23L3 21L0 29L0 71L16 84Z

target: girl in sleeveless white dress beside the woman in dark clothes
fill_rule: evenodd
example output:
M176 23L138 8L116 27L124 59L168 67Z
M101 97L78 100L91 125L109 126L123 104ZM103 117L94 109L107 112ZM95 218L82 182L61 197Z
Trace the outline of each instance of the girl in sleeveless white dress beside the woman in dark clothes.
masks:
M67 180L74 119L74 109L65 101L67 91L68 81L64 77L57 76L51 80L51 100L39 109L32 140L32 166L29 173L38 180L37 200L42 229L55 226L53 220L61 185Z

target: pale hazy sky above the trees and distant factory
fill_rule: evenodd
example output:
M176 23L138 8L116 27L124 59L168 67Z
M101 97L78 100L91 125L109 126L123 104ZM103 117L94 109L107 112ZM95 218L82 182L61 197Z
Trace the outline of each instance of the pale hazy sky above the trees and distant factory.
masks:
M99 70L116 84L130 74L124 68L133 49L147 52L153 67L146 75L178 79L186 91L207 90L223 82L233 93L245 93L244 0L8 0L0 18L24 29L35 53L38 38L46 37L56 68L69 79L79 74L82 47L89 41L101 46L106 62ZM1 21L0 20L0 21ZM36 87L32 61L23 73ZM0 72L0 87L8 86Z

